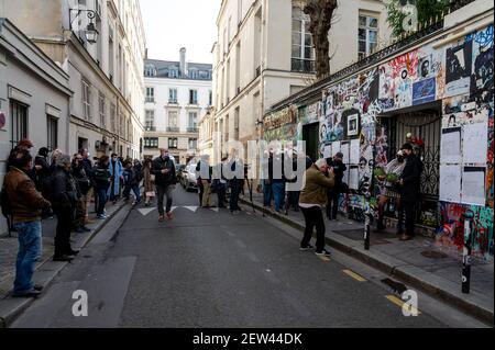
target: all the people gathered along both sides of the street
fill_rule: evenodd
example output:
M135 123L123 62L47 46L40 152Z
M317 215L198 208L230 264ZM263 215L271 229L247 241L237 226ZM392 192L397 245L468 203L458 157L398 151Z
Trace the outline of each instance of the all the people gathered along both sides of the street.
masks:
M35 296L41 293L41 286L33 284L32 276L41 256L43 218L57 218L54 261L72 261L79 253L70 245L70 235L72 232L90 232L87 224L90 223L88 206L91 199L97 219L108 218L108 202L117 204L121 197L130 201L131 192L135 197L133 204L140 204L144 196L144 205L148 206L156 197L158 222L173 218L172 204L178 179L175 159L168 149L162 148L157 158L146 158L141 162L123 159L117 154L111 157L103 155L91 161L88 149L80 149L70 157L58 149L50 153L46 147L41 148L33 159L30 153L33 147L30 140L23 139L12 149L1 191L2 213L10 218L9 227L16 230L19 237L14 296ZM343 155L339 153L333 158L316 162L304 156L306 172L300 191L290 187L297 182L297 174L286 177L283 170L275 176L276 161L280 161L282 169L285 169L284 154L271 150L267 156L264 168L267 173L263 176L262 183L265 208L271 208L273 200L277 213L282 213L283 207L286 213L290 207L301 211L306 229L300 249L306 251L315 248L310 240L316 228L316 253L329 256L330 252L324 248L323 213L328 219L337 219L340 194L348 191L342 181L346 170ZM296 170L299 154L294 153L292 159L293 170ZM422 163L413 146L405 144L397 159L377 176L382 188L377 232L385 228L384 207L393 199L399 212L400 239L414 238L421 171ZM216 193L219 208L227 207L228 203L230 212L239 214L239 197L244 191L246 172L248 167L234 151L230 158L222 158L216 166L210 165L208 156L201 157L196 165L200 206L211 207L211 194Z

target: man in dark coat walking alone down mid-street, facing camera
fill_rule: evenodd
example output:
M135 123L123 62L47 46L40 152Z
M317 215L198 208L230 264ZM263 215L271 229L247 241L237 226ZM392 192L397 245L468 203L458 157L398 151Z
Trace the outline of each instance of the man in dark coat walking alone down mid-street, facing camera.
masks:
M173 202L173 191L175 190L175 184L177 183L177 174L175 172L175 163L172 160L168 149L161 148L160 157L153 160L152 173L155 176L155 185L158 196L158 222L165 219L165 213L167 219L172 219L172 202ZM166 211L163 207L163 197L166 195Z

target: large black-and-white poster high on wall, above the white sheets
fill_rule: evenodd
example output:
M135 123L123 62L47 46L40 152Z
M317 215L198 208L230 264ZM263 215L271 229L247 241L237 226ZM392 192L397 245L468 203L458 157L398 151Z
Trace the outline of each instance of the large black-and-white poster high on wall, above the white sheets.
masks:
M473 42L447 49L446 53L446 97L470 92L473 70Z

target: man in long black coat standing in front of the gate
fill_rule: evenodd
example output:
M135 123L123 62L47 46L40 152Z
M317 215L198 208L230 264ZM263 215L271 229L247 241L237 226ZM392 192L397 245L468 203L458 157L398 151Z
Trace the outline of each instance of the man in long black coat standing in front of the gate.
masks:
M406 166L399 181L400 202L406 214L406 233L400 240L410 240L415 237L416 203L420 197L422 162L414 154L413 145L405 144L402 150L406 157Z

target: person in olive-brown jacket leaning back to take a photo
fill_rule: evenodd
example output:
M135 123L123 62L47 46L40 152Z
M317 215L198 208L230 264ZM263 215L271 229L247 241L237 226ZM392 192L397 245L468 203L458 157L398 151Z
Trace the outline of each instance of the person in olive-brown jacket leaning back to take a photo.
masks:
M324 249L324 221L322 207L327 205L327 190L333 188L334 176L330 172L327 177L328 163L326 159L319 159L306 171L306 185L300 192L299 207L305 216L305 236L300 242L300 250L306 251L312 248L309 244L314 228L317 229L317 256L330 256Z

